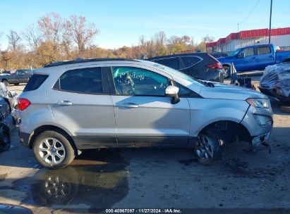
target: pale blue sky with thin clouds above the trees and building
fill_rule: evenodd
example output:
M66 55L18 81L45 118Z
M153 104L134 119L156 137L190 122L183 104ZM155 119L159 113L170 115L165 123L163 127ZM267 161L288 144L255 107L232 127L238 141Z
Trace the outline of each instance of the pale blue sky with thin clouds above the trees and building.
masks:
M290 27L289 8L290 0L273 0L272 27ZM270 0L0 0L1 39L6 40L8 30L21 32L50 12L64 18L85 16L100 30L98 46L118 48L136 45L142 34L150 39L160 30L167 37L186 34L200 42L206 34L219 39L237 32L237 23L239 30L267 28Z

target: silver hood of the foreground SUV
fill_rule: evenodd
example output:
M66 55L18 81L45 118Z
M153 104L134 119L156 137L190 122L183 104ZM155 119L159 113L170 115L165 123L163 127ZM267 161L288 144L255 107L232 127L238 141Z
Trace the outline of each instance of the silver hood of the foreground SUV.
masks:
M246 100L248 98L265 98L267 96L253 89L231 86L228 84L212 82L215 87L202 87L200 96L210 99L236 99Z

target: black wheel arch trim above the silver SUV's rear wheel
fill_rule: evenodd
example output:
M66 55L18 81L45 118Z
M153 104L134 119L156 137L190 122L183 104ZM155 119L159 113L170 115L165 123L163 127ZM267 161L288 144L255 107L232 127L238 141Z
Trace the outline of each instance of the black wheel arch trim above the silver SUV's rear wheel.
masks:
M29 141L28 141L28 146L30 149L32 149L35 138L41 134L42 132L45 131L55 131L58 132L59 134L63 134L64 137L66 137L68 139L68 141L70 142L71 146L73 146L73 149L76 151L77 150L77 140L74 139L74 137L71 137L70 134L68 134L68 132L66 132L64 129L61 129L60 127L57 127L55 125L42 125L40 127L37 127L31 134L29 137Z

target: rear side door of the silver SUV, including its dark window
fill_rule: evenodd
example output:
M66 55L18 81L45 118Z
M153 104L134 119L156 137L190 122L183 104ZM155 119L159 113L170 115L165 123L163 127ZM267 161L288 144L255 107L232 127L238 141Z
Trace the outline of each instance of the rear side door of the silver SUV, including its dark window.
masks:
M65 69L47 90L47 102L57 124L72 132L80 148L116 145L114 108L102 65Z

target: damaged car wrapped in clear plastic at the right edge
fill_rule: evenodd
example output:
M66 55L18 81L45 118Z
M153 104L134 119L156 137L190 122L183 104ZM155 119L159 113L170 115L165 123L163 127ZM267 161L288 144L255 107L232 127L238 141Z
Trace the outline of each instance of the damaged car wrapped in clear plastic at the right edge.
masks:
M290 103L290 62L267 66L259 89L267 96Z

